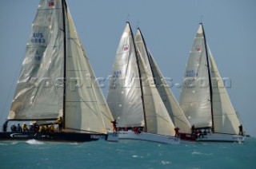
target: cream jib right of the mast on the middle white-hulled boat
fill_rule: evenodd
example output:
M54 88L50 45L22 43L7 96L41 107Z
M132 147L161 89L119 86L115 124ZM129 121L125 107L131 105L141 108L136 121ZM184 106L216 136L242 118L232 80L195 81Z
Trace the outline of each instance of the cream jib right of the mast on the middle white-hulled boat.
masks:
M140 43L139 41L136 41L136 45L137 42ZM152 79L152 77L149 76L151 70L146 66L144 58L148 60L146 56L140 54L140 49L138 48L138 63L140 65L145 105L146 132L174 136L174 124L159 96L158 90L155 88L154 84L151 84L151 81L148 81L149 79Z

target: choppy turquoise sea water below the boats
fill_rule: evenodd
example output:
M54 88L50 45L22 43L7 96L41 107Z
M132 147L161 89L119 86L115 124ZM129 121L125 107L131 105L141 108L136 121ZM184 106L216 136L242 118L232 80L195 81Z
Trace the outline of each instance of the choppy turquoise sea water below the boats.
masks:
M103 140L90 143L1 141L0 168L256 168L256 138L245 143Z

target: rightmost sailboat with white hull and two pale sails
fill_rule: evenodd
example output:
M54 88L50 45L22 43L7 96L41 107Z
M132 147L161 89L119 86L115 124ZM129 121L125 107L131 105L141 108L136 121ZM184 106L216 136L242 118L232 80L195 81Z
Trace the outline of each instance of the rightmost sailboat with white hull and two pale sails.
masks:
M206 44L202 23L186 64L179 103L198 141L244 141L242 123Z

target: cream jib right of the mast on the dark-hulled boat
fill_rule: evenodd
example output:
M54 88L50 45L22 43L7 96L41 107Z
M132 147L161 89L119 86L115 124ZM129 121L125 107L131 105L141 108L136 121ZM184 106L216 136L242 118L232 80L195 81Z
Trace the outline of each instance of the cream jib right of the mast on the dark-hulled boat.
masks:
M82 43L67 12L66 56L66 128L82 131L105 132L113 120L106 107L96 77L90 67ZM106 124L105 124L106 123Z

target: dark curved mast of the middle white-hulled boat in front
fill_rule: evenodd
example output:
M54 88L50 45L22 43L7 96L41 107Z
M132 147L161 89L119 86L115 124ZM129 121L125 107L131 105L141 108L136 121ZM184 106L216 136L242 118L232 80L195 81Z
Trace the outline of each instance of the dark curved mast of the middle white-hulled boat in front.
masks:
M130 22L126 22L126 23L128 23L128 25L130 27ZM139 68L139 65L138 65L138 54L137 54L137 49L136 49L136 45L135 45L135 42L134 42L134 33L133 33L131 28L130 28L130 33L131 33L131 38L132 38L133 44L134 44L136 63L137 63L137 66L138 66L138 78L139 78L139 84L141 86L141 92L142 92L142 108L143 108L143 115L144 115L144 120L145 120L145 132L146 132L146 111L145 111L145 104L144 104L144 97L143 97L141 69Z

